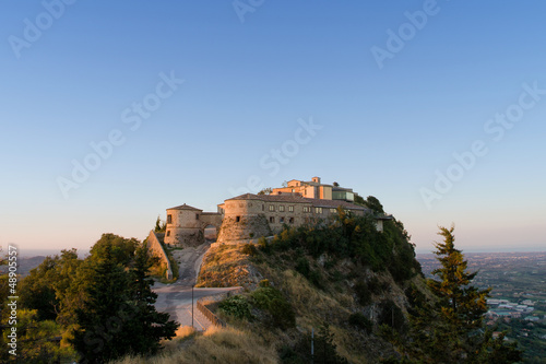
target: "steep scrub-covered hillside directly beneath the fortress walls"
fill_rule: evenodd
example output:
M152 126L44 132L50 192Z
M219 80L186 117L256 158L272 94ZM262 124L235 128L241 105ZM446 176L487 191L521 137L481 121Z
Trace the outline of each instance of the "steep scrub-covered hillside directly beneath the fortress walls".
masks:
M227 251L227 260L246 262L244 270L250 273L239 279L247 292L223 302L217 314L269 338L278 362L308 363L311 331L335 348L322 353L330 362L367 363L394 355L392 345L373 332L381 325L402 330L408 305L404 290L424 289L400 222L387 222L380 233L371 216L343 210L331 225L286 227L258 246L212 249L201 272L209 278L214 272L216 280L209 284L229 280Z

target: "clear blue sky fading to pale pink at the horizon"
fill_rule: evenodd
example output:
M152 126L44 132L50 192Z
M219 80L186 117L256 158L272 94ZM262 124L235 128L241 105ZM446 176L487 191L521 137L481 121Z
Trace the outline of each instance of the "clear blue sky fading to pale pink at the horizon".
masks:
M468 251L546 249L545 13L532 1L5 2L0 244L144 238L166 208L215 211L251 176L320 176L379 198L419 250L452 222ZM507 113L515 121L495 121ZM321 129L298 132L310 120ZM91 143L111 133L97 166ZM453 153L476 141L464 168ZM76 183L73 161L95 171ZM435 187L437 171L451 187Z

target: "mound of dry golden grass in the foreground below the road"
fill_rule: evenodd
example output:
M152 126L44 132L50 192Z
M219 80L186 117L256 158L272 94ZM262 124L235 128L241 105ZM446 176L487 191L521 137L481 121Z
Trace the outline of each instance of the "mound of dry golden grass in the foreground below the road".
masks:
M176 340L175 340L176 341ZM232 328L211 327L203 334L195 337L191 344L166 350L154 357L126 356L111 364L232 364L232 363L278 363L273 345L252 332Z

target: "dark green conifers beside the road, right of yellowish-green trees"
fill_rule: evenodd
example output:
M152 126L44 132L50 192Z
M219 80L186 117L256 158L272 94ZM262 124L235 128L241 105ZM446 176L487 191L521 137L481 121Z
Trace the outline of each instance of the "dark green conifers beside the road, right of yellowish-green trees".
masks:
M152 291L146 247L129 251L133 259L123 267L114 254L112 242L118 239L114 237L103 236L97 242L99 249L93 249L84 303L75 310L78 328L71 342L87 363L104 363L128 353L154 354L161 349L159 341L171 339L179 326L155 309L157 295Z

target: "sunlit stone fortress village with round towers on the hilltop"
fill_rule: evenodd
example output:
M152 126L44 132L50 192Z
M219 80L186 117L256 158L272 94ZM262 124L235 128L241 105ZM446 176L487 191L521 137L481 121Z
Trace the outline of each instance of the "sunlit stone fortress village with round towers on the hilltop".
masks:
M320 177L311 180L292 179L269 193L245 193L218 204L217 212L181 204L167 209L165 244L197 246L204 242L205 228L215 231L219 243L252 242L271 236L283 225L301 226L333 219L342 208L356 215L373 212L355 203L358 193L352 188L322 184ZM383 221L391 215L375 215L376 227L383 230Z

